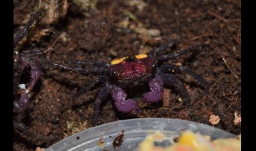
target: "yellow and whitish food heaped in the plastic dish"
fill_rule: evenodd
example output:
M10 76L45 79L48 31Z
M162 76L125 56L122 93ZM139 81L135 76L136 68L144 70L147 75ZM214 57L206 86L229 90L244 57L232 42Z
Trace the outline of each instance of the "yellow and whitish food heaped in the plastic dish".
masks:
M237 138L223 138L210 141L210 136L203 136L192 131L185 131L174 145L163 148L154 147L154 141L160 141L159 134L147 136L139 144L138 151L239 151L241 150L241 134ZM163 137L161 137L163 138ZM166 137L165 137L166 138Z

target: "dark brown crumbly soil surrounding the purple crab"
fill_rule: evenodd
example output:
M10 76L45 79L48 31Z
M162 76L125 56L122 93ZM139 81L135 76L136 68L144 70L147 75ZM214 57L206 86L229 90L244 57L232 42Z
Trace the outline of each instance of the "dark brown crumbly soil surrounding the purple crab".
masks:
M135 98L141 108L136 115L118 112L109 95L100 109L100 124L163 117L212 125L210 115L218 115L221 120L215 127L241 133L241 123L233 122L234 113L241 115L241 2L91 0L86 2L89 5L80 2L14 1L15 33L24 27L32 13L39 8L44 10L15 51L46 50L64 34L46 52L49 60L109 62L137 52L149 52L171 38L179 38L174 51L192 44L201 44L202 49L171 62L192 68L209 83L205 95L193 77L176 74L185 83L192 99L191 107L179 102L181 93L174 86L165 87L164 101L154 104L143 102L143 94L149 88L130 91L128 97ZM15 88L17 84L30 82L30 68L22 74L18 72L15 70ZM70 99L93 77L44 67L31 93L30 106L23 114L14 113L14 120L26 126L23 130L14 129L14 150L47 148L92 127L93 103L100 88L75 101ZM19 95L14 98L19 99Z

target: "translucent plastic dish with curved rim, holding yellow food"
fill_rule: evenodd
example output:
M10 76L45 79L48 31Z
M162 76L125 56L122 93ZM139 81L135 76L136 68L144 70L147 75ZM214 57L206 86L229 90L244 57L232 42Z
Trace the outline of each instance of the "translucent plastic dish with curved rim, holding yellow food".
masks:
M118 134L122 133L122 130L124 131L122 145L118 148L113 148L113 141ZM149 134L162 132L167 138L175 138L185 130L200 132L201 134L211 136L212 139L236 137L234 134L203 123L173 118L136 118L91 127L62 139L47 148L46 151L136 150L138 144ZM104 143L100 143L100 138L102 138ZM161 143L162 146L172 144L170 141L163 141Z

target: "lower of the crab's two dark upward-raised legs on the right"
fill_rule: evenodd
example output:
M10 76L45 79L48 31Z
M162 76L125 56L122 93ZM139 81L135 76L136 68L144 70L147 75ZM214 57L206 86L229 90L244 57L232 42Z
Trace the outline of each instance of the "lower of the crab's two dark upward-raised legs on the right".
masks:
M179 56L182 56L183 54L187 54L188 52L196 51L197 49L200 49L200 45L192 45L190 47L187 47L183 51L161 55L156 58L158 61L174 60L174 59L178 58Z

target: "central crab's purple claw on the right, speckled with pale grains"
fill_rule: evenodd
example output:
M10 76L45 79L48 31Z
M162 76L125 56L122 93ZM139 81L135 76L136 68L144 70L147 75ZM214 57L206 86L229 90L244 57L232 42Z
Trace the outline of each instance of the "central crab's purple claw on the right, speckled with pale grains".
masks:
M156 76L151 82L149 82L151 91L144 95L144 100L147 102L158 102L163 99L163 82L160 76Z

